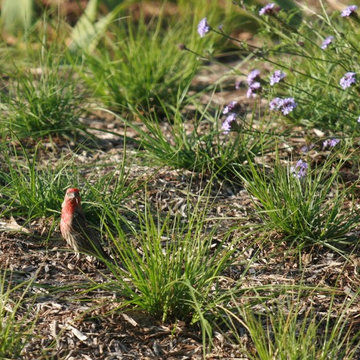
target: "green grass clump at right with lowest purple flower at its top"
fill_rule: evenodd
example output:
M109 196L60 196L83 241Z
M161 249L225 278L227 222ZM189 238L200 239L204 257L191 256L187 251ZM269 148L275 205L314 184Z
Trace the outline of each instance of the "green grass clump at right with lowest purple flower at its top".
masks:
M335 152L314 169L304 160L289 167L277 158L270 171L249 161L250 172L242 179L267 227L299 246L345 242L359 216L347 204L352 187L342 186L339 170L344 161L336 156Z

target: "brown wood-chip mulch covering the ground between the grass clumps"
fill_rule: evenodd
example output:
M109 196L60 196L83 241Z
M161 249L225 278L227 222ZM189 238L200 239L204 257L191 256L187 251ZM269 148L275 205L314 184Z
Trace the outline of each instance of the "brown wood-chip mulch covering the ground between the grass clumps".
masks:
M221 76L221 69L212 69L209 74ZM207 78L208 82L215 80L210 75ZM229 80L229 84L233 84L234 80ZM246 103L244 89L230 91L228 88L216 94L214 101L219 105L225 105L234 99ZM97 115L89 117L86 121L99 129L124 133L123 124L109 116ZM166 131L165 124L164 129ZM129 129L126 134L136 138L136 134ZM95 171L96 164L102 164L105 159L115 163L123 157L121 138L100 132L96 135L99 137L100 146L97 149L84 150L75 157L79 164L91 164L91 171ZM284 148L287 149L297 149L305 144L304 141L299 141L299 138L293 142L287 139L286 142L288 143ZM189 193L195 200L199 199L210 177L191 171L150 166L136 156L136 146L131 142L127 144L129 180L145 179L146 194L145 189L141 188L125 200L124 205L136 210L137 204L146 195L154 208L171 215L186 216ZM42 154L44 162L56 161L60 154L64 155L66 152L73 156L71 146L61 140L49 147L52 151ZM322 154L314 153L315 156L321 157ZM107 169L101 167L96 171L102 176ZM240 222L261 222L250 196L240 185L218 180L212 184L207 196L211 198L209 218L216 218L214 223L219 218L224 218L224 231L219 231L214 242L221 241L226 230ZM26 295L29 299L28 309L20 312L22 316L28 316L29 320L36 317L34 333L29 338L22 359L115 360L203 357L202 334L198 327L181 321L162 323L131 309L117 310L123 299L118 298L115 293L104 290L82 293L89 284L106 281L106 277L111 276L109 271L94 259L75 258L74 254L66 249L58 228L47 239L51 221L40 219L21 228L15 220L21 222L21 219L7 219L2 220L2 225L0 224L7 230L0 233L0 268L12 271L12 275L8 275L13 283L34 279ZM11 227L9 224L12 224L13 230L23 231L8 231ZM209 224L211 226L211 222ZM338 315L344 302L351 302L357 294L360 286L360 257L355 249L346 257L321 246L308 247L300 253L289 248L279 233L267 234L266 242L261 240L261 235L259 234L258 239L251 239L250 243L249 238L240 241L238 258L234 259L233 266L224 274L228 278L228 283L223 286L231 287L239 279L242 281L241 286L249 289L249 292L252 287L259 285L273 285L274 289L279 285L299 284L318 289L336 286L338 295L334 303L331 303L329 294L321 291L310 291L301 298L301 306L312 306L319 314L325 314L331 306L334 317ZM241 237L242 234L234 236ZM354 233L354 238L357 237L358 234ZM248 271L243 276L247 266ZM54 291L56 288L58 290ZM269 292L272 291L269 288ZM37 295L35 300L31 300L31 295ZM347 310L349 322L354 330L360 330L359 306L359 302L354 301ZM221 329L218 330L214 333L214 344L208 351L207 358L246 359L241 349L242 346L251 348L251 340L245 328L239 327L241 341L238 342L226 329L222 329L223 332L220 332Z

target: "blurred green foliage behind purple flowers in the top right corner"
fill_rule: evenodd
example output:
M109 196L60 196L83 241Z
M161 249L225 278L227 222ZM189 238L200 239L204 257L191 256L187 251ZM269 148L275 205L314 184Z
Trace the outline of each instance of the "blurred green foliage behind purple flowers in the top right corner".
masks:
M358 18L341 16L338 11L329 14L323 1L316 10L298 4L297 14L304 10L313 16L303 16L296 27L291 23L296 13L282 9L283 3L279 12L265 15L248 8L260 25L264 43L261 54L266 54L261 62L270 64L272 72L281 70L286 74L284 81L275 86L269 86L268 77L264 78L264 92L269 100L277 96L295 99L296 112L286 116L293 123L357 133L358 79L345 87L341 79L348 72L359 72L360 49L355 40Z

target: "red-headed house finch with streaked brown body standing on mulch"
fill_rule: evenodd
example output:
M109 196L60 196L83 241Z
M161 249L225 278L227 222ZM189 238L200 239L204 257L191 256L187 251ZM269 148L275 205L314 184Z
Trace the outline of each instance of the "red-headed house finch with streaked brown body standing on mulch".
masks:
M62 203L60 231L76 253L87 253L113 261L100 244L100 234L86 225L79 189L66 190Z

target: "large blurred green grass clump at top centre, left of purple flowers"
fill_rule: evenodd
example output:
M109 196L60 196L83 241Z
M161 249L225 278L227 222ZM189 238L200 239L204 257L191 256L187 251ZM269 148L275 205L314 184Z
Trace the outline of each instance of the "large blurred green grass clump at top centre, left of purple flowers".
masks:
M131 107L161 110L174 106L178 91L188 87L198 59L178 48L195 44L192 19L165 26L163 16L146 23L120 20L107 46L85 53L84 80L105 105L117 112ZM196 45L203 49L206 42Z

